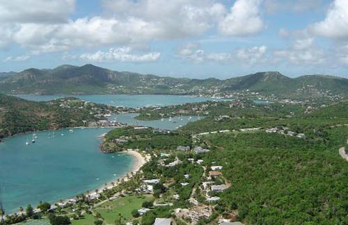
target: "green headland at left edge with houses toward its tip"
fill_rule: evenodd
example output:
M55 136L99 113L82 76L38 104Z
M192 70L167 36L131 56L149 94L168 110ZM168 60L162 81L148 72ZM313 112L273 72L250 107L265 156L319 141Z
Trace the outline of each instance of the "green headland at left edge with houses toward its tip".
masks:
M30 131L88 126L105 119L111 110L111 106L75 98L36 102L0 94L0 139Z

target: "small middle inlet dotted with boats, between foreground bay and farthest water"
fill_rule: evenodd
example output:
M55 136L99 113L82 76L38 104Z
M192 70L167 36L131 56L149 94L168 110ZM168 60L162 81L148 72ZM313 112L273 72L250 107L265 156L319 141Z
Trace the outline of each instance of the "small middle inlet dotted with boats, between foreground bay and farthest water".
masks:
M166 130L174 130L178 128L179 126L184 126L189 122L195 122L198 119L203 119L204 117L197 117L197 116L181 116L181 117L173 117L171 118L171 121L169 121L169 118L166 119L159 119L159 120L138 120L134 119L136 117L137 113L125 113L120 115L114 115L112 117L109 117L110 120L116 119L117 122L129 124L129 125L141 125L141 126L151 126L153 128L160 128L160 129L166 129Z

